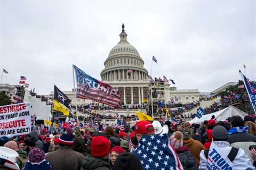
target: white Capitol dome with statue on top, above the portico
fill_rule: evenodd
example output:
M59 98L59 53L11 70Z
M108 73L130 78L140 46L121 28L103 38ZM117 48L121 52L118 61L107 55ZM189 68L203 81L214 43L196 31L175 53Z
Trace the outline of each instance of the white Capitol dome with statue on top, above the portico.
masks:
M138 81L147 80L148 71L143 67L144 61L138 50L127 41L127 34L122 25L120 41L114 46L104 62L101 71L102 81Z

